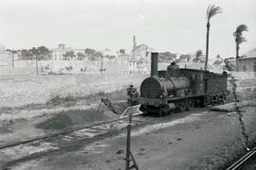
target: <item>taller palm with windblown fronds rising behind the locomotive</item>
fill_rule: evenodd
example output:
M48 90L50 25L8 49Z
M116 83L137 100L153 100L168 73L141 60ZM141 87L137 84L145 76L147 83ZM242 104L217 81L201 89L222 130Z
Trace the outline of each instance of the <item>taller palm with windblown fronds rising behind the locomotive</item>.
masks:
M214 15L221 13L221 8L218 6L210 5L207 9L207 42L206 42L206 62L205 62L205 70L207 70L208 66L208 58L209 58L209 31L210 31L210 18Z

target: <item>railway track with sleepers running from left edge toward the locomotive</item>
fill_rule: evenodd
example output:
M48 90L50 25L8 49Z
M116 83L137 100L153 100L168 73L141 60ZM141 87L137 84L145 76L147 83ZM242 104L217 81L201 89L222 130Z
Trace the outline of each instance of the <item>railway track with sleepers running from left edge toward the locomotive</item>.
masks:
M149 117L136 117L133 124L143 125L148 123ZM154 119L153 119L154 120ZM47 152L78 144L85 141L92 141L93 138L104 137L117 133L127 127L126 117L111 121L96 123L91 126L74 127L61 132L46 134L26 141L16 142L0 146L0 167L11 161L24 159L30 156L38 156Z

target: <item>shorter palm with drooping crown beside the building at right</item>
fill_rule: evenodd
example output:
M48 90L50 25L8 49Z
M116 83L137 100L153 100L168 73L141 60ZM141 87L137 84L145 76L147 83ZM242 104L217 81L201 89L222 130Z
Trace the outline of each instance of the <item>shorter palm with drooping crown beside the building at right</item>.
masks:
M235 45L236 45L236 71L238 71L238 58L239 58L239 49L240 44L243 42L247 42L247 39L242 36L242 33L244 31L248 31L247 25L240 25L236 27L235 32L233 33L233 36L235 38Z

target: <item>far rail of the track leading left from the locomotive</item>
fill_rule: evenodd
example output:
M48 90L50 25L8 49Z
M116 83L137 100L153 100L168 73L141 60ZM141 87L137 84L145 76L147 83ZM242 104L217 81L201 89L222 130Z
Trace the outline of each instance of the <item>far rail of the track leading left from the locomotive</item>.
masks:
M64 131L59 131L59 132L55 132L55 133L51 133L51 134L46 134L46 135L43 135L43 136L40 136L40 137L28 139L28 140L25 140L25 141L20 141L20 142L15 142L15 143L11 143L11 144L1 145L0 150L5 149L5 148L9 148L9 147L13 147L13 146L16 146L16 145L20 145L20 144L28 144L28 143L32 143L32 142L35 142L35 141L40 141L40 140L43 140L43 139L46 139L46 138L62 135L62 134L68 133L68 132L81 130L81 129L84 129L84 128L98 127L98 126L101 126L101 125L104 125L104 124L118 122L118 121L123 120L125 118L126 117L121 117L121 118L118 118L118 119L105 121L105 122L101 122L101 123L97 123L97 124L90 125L90 126L85 126L85 127L74 127L74 128L70 128L70 129L67 129L67 130L64 130Z

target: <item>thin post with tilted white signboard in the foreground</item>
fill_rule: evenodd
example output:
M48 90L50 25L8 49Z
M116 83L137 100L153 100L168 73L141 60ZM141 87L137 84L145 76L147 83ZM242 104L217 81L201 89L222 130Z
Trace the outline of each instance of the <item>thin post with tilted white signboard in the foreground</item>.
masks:
M132 117L133 115L139 115L142 114L143 112L139 110L140 105L128 107L126 110L123 111L120 117L129 117L129 124L127 126L127 138L126 138L126 158L125 158L125 170L130 170L130 169L137 169L137 162L133 156L133 153L130 150L130 145L131 145L131 128L132 128ZM133 165L130 166L130 161L133 161Z

